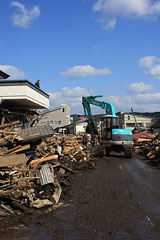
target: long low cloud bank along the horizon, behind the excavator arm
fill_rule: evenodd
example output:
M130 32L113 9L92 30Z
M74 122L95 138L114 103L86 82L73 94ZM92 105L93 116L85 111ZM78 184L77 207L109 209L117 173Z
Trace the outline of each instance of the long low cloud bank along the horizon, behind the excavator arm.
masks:
M64 87L58 92L49 93L49 95L50 108L59 107L61 104L67 104L71 108L71 114L84 114L82 96L94 96L99 94L81 87ZM130 112L131 108L137 112L160 111L160 92L155 94L144 93L135 96L110 95L107 98L98 98L97 100L112 103L116 112ZM93 114L105 114L104 110L94 105L91 105L91 110Z

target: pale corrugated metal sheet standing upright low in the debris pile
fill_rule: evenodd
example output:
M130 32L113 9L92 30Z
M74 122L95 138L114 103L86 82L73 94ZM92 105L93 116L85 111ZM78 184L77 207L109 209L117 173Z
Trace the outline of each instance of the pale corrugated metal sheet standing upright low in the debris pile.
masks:
M46 185L49 183L54 183L54 169L49 163L41 166L39 171L41 185Z

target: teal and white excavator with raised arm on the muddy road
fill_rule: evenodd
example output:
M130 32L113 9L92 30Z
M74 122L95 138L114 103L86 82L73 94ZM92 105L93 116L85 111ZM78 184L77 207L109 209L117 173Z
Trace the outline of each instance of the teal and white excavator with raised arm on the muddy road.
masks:
M119 128L119 118L116 116L114 105L104 101L98 101L96 98L103 95L82 97L82 105L85 116L88 118L86 132L100 137L101 154L109 156L110 152L124 152L125 156L132 156L133 135L129 129ZM106 114L101 118L101 132L93 121L90 104L105 109Z

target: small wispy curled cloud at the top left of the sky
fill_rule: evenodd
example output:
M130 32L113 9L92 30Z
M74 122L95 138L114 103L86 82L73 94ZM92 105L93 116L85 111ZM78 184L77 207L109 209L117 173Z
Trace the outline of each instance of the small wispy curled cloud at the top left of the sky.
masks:
M18 1L12 1L11 6L18 8L18 12L12 16L12 22L15 26L29 28L33 20L40 16L40 9L38 6L34 6L32 9L27 9Z

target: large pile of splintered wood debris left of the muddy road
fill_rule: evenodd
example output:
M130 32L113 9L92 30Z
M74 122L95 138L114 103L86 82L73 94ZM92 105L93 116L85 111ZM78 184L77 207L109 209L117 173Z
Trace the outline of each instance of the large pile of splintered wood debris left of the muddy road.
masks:
M24 134L16 125L0 132L0 216L52 211L61 206L74 173L95 167L90 135L84 146L82 134L40 134L35 128Z

